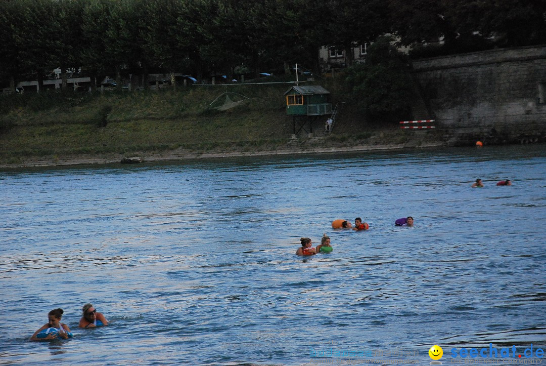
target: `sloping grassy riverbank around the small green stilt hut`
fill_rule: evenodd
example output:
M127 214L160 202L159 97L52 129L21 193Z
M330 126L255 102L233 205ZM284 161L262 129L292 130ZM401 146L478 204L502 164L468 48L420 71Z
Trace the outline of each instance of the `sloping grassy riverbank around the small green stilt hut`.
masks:
M316 138L300 133L296 140L283 97L288 84L3 97L0 165L394 148L408 140L395 125L366 125L335 80L320 84L334 103L346 102L335 129L324 135L321 117L313 125ZM226 90L250 100L224 112L209 109Z

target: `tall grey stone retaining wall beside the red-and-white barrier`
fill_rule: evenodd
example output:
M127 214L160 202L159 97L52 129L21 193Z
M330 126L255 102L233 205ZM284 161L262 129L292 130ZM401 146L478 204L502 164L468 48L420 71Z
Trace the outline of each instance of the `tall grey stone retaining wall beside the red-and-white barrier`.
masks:
M417 60L413 78L449 138L546 141L546 46Z

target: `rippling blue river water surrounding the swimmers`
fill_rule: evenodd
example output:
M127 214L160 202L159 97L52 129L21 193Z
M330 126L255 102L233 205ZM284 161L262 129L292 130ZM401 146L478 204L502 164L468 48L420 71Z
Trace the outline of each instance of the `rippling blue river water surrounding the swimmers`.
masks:
M0 189L0 363L546 344L544 145L3 170ZM331 229L357 216L370 230ZM294 255L323 233L333 253ZM77 328L89 301L108 327ZM74 338L29 342L57 307Z

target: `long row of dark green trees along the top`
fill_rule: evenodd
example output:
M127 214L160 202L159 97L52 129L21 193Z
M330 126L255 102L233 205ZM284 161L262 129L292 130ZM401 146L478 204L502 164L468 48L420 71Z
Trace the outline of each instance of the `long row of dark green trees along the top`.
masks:
M544 0L3 0L0 82L87 75L254 73L303 63L384 33L442 52L546 43ZM119 85L121 86L121 85Z

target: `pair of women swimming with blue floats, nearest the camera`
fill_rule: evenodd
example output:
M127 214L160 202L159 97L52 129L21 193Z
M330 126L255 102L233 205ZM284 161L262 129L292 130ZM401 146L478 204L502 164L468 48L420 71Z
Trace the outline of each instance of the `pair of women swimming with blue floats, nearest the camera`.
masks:
M79 328L95 328L108 325L108 320L106 320L104 315L97 312L97 309L95 309L90 303L87 303L84 305L84 307L82 307L82 312L82 317L80 319L80 323L78 324ZM61 323L63 313L64 311L61 308L51 310L48 313L48 322L34 332L34 334L31 336L31 341L49 341L54 339L72 338L70 328L68 328L67 324Z

